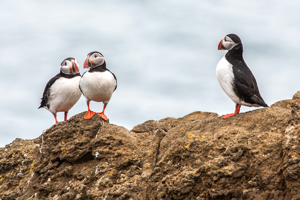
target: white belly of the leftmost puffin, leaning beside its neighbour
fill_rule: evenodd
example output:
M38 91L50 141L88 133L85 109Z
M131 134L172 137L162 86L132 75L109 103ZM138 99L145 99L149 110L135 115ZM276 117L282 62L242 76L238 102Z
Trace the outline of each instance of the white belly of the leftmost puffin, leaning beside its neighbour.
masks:
M80 99L80 76L74 78L59 78L50 87L49 111L52 113L70 110Z

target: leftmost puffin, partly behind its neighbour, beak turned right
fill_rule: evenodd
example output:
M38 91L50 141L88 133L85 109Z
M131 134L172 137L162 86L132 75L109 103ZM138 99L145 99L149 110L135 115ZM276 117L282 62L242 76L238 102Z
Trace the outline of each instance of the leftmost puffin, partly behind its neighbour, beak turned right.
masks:
M75 58L67 58L61 63L60 73L50 79L47 83L41 106L49 110L55 118L57 112L64 112L64 121L67 121L68 111L81 97L78 87L80 81L79 65Z

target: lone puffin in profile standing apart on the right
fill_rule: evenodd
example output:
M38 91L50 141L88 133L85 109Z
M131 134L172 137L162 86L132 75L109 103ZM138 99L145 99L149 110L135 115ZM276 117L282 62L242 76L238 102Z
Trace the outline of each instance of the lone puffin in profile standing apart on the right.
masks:
M240 112L241 106L268 107L259 94L256 80L243 59L243 45L235 34L226 35L218 50L228 50L217 64L217 80L227 96L235 103L235 111L223 119Z

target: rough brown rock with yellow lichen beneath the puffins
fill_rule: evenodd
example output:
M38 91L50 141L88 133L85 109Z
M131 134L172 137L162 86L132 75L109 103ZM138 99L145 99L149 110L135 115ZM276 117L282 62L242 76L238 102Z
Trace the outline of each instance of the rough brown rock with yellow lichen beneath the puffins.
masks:
M300 199L300 92L221 119L194 112L131 131L84 113L0 148L0 198Z

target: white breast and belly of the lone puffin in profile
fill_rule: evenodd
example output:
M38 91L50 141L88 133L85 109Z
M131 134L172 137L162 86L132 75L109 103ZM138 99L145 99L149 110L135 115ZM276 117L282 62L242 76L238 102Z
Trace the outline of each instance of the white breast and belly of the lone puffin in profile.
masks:
M217 80L226 95L228 95L235 104L239 103L241 100L233 90L234 75L232 71L232 64L225 59L225 56L217 64L216 75Z

